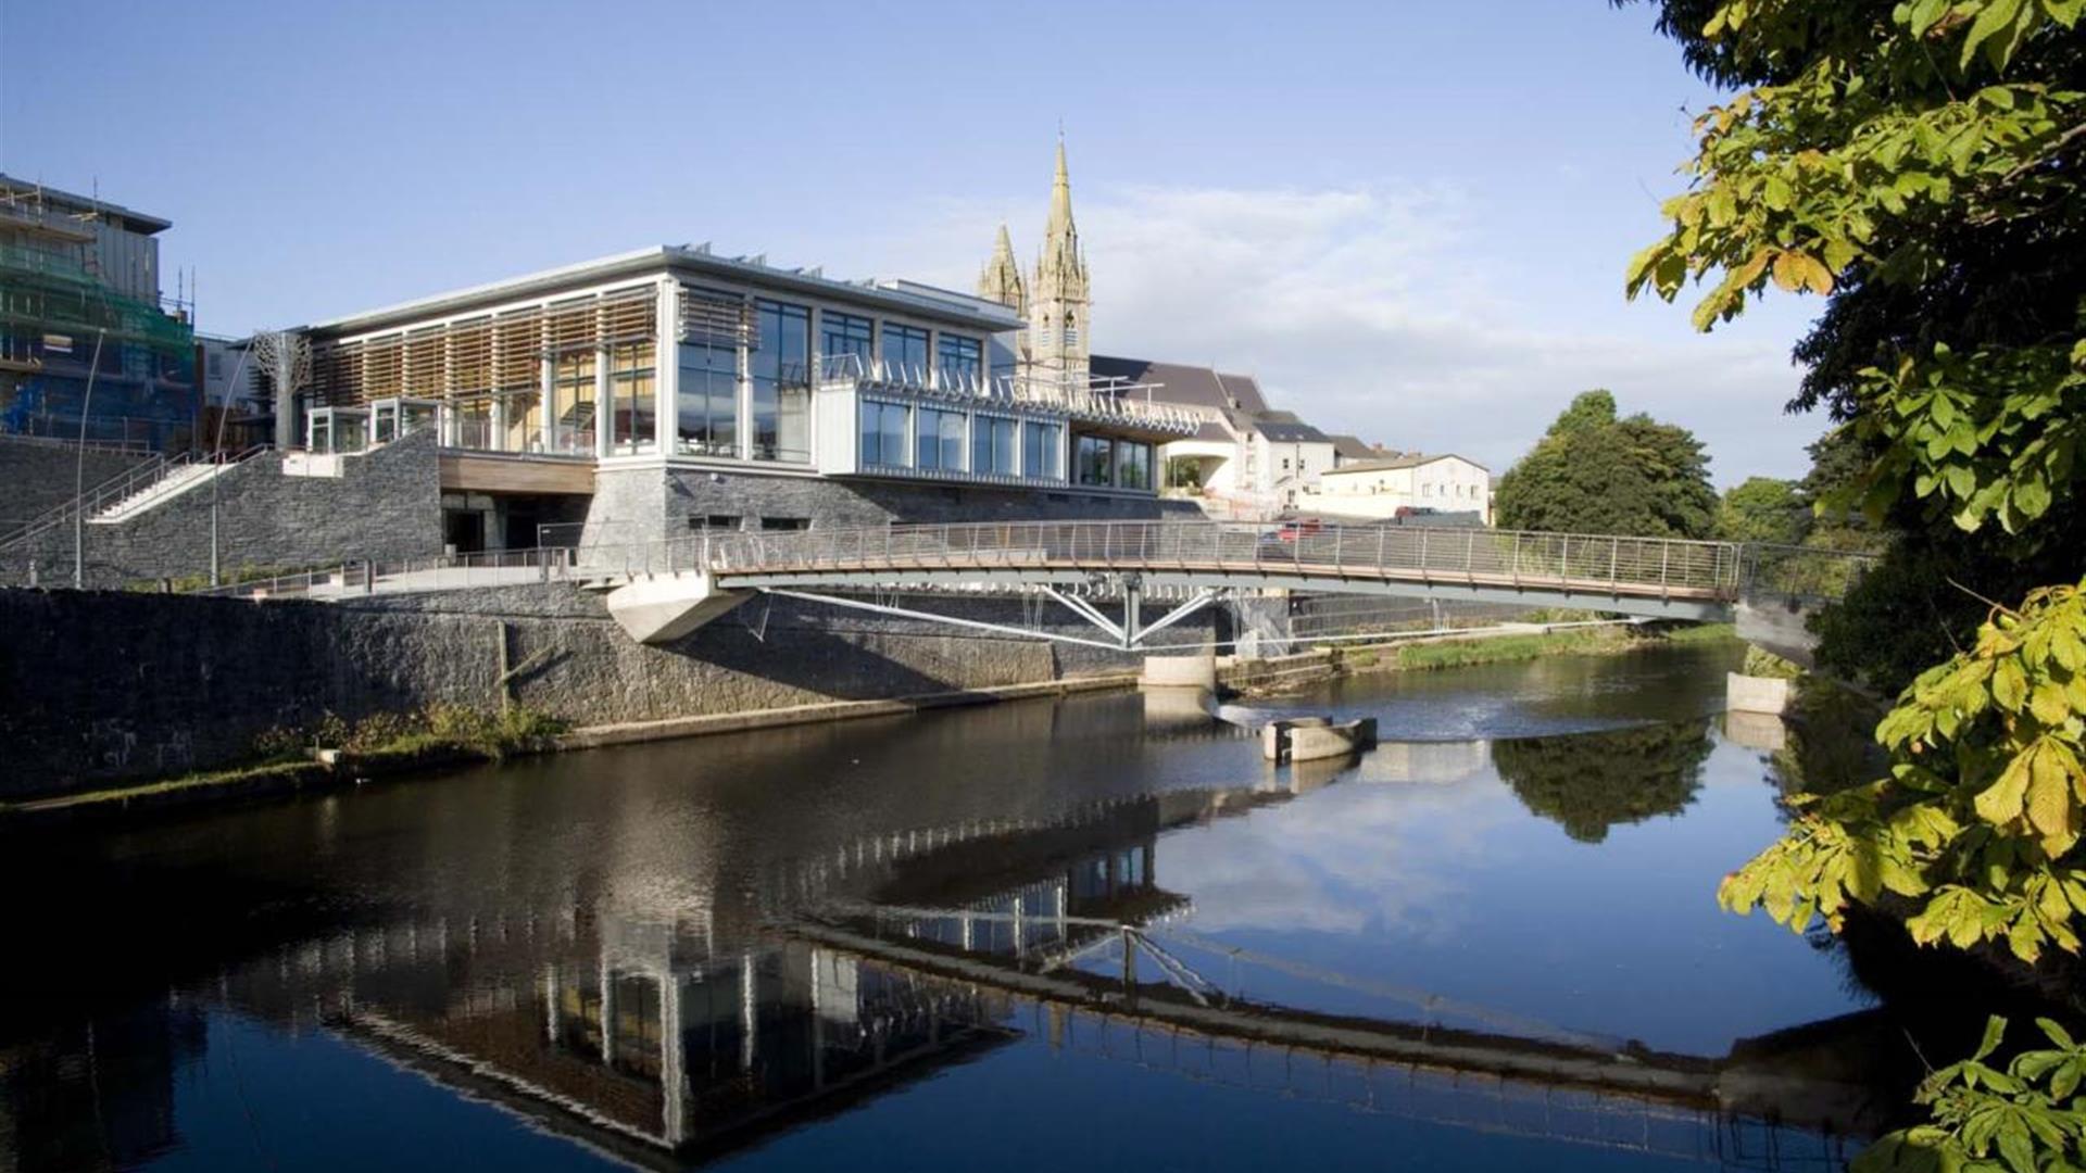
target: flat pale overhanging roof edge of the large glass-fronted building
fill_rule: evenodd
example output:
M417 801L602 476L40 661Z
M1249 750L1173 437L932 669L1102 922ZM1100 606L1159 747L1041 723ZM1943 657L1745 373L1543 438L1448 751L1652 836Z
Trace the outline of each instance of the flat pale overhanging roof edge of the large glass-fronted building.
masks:
M970 298L966 294L955 294L951 290L924 292L932 286L909 290L903 288L903 282L843 282L824 276L820 269L784 269L770 265L766 257L718 257L707 244L659 244L653 248L638 248L634 253L580 261L578 265L524 273L503 282L386 305L363 313L350 313L346 317L330 317L325 321L302 326L302 330L357 334L365 330L382 330L392 324L405 324L417 317L463 313L488 303L542 296L557 292L559 288L657 271L680 271L697 278L707 276L715 280L738 280L766 288L795 290L805 296L895 309L955 326L968 326L972 330L1001 332L1022 328L1022 319L1012 309Z

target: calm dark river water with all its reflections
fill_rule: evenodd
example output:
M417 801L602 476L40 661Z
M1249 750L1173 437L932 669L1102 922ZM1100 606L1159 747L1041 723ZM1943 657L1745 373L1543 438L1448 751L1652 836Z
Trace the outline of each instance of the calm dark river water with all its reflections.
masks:
M1715 906L1779 827L1727 666L1350 680L1325 768L1106 695L15 843L0 1169L1836 1167L1879 1012Z

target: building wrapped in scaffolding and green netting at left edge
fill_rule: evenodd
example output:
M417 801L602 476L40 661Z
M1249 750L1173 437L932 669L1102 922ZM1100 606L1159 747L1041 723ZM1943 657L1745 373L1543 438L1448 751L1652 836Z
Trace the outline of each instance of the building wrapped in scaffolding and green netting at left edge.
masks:
M161 307L167 228L0 175L0 430L71 438L86 413L94 440L190 442L196 336L186 311Z

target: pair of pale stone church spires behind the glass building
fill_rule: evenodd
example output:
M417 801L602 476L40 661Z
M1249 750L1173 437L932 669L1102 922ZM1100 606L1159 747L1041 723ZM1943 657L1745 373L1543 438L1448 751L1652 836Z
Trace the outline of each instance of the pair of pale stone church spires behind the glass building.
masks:
M1091 374L1087 351L1087 255L1078 246L1078 225L1072 223L1072 177L1064 165L1064 138L1058 140L1058 179L1049 192L1049 219L1043 223L1043 250L1037 267L1022 280L1014 261L1008 225L999 225L993 259L978 276L978 296L1012 307L1028 319L1016 336L1016 357L1028 378L1085 384Z

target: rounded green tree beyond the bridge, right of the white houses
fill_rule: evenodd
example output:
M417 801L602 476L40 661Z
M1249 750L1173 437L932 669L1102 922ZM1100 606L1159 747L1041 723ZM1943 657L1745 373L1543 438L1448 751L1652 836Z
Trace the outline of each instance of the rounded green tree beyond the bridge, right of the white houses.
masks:
M1717 490L1692 432L1617 420L1615 397L1590 390L1500 478L1496 505L1510 530L1706 538Z

